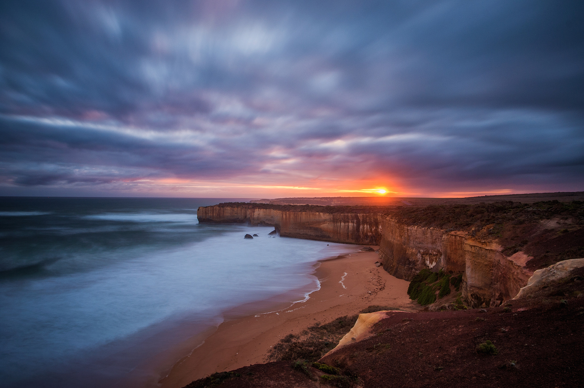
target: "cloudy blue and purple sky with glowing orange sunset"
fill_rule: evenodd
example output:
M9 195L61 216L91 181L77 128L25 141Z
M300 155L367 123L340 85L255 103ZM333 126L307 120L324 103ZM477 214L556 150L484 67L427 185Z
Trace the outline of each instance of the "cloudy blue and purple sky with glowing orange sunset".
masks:
M584 191L580 0L0 2L0 195Z

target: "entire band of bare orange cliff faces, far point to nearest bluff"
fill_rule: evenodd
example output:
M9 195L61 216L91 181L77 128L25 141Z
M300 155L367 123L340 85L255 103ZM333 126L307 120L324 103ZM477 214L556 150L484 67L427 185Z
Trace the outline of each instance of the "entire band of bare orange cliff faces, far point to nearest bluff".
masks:
M465 232L409 226L376 213L326 213L263 209L249 204L199 207L200 223L273 225L283 237L380 245L380 261L395 277L410 280L424 268L464 273L461 291L468 305L495 306L515 297L531 272L520 253L503 255L494 242ZM519 255L519 256L517 256ZM525 255L523 255L525 256Z

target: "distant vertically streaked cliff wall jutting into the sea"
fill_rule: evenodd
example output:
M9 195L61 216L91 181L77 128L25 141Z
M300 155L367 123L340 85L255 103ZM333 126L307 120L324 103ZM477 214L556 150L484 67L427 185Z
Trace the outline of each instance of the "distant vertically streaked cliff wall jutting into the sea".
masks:
M378 245L381 229L377 214L321 213L254 209L249 206L199 207L200 223L273 225L283 237Z

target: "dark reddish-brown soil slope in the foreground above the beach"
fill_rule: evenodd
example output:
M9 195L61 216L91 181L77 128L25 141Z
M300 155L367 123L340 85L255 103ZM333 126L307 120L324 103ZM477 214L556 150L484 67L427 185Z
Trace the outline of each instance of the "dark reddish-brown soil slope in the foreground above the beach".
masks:
M486 312L392 312L373 332L321 362L359 376L357 385L366 388L579 387L584 378L584 268ZM486 340L498 354L477 352L477 345ZM290 362L234 372L239 376L218 386L318 386L294 371ZM203 386L203 380L192 385Z

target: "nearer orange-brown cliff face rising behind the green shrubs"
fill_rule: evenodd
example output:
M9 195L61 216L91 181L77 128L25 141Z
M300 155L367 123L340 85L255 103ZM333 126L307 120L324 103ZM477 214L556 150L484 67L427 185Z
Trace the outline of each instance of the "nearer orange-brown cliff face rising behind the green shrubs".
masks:
M424 268L463 272L463 299L472 307L515 297L531 276L524 262L507 258L498 244L463 232L408 226L388 216L381 217L381 228L379 253L386 271L406 280Z

